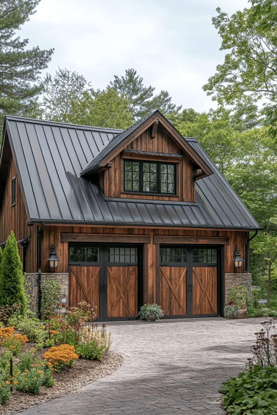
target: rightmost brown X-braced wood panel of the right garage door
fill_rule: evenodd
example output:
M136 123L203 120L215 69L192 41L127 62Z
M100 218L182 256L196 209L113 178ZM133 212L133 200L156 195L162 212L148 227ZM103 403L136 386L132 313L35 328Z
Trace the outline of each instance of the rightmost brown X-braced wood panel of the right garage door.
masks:
M192 267L192 314L217 314L217 268Z

